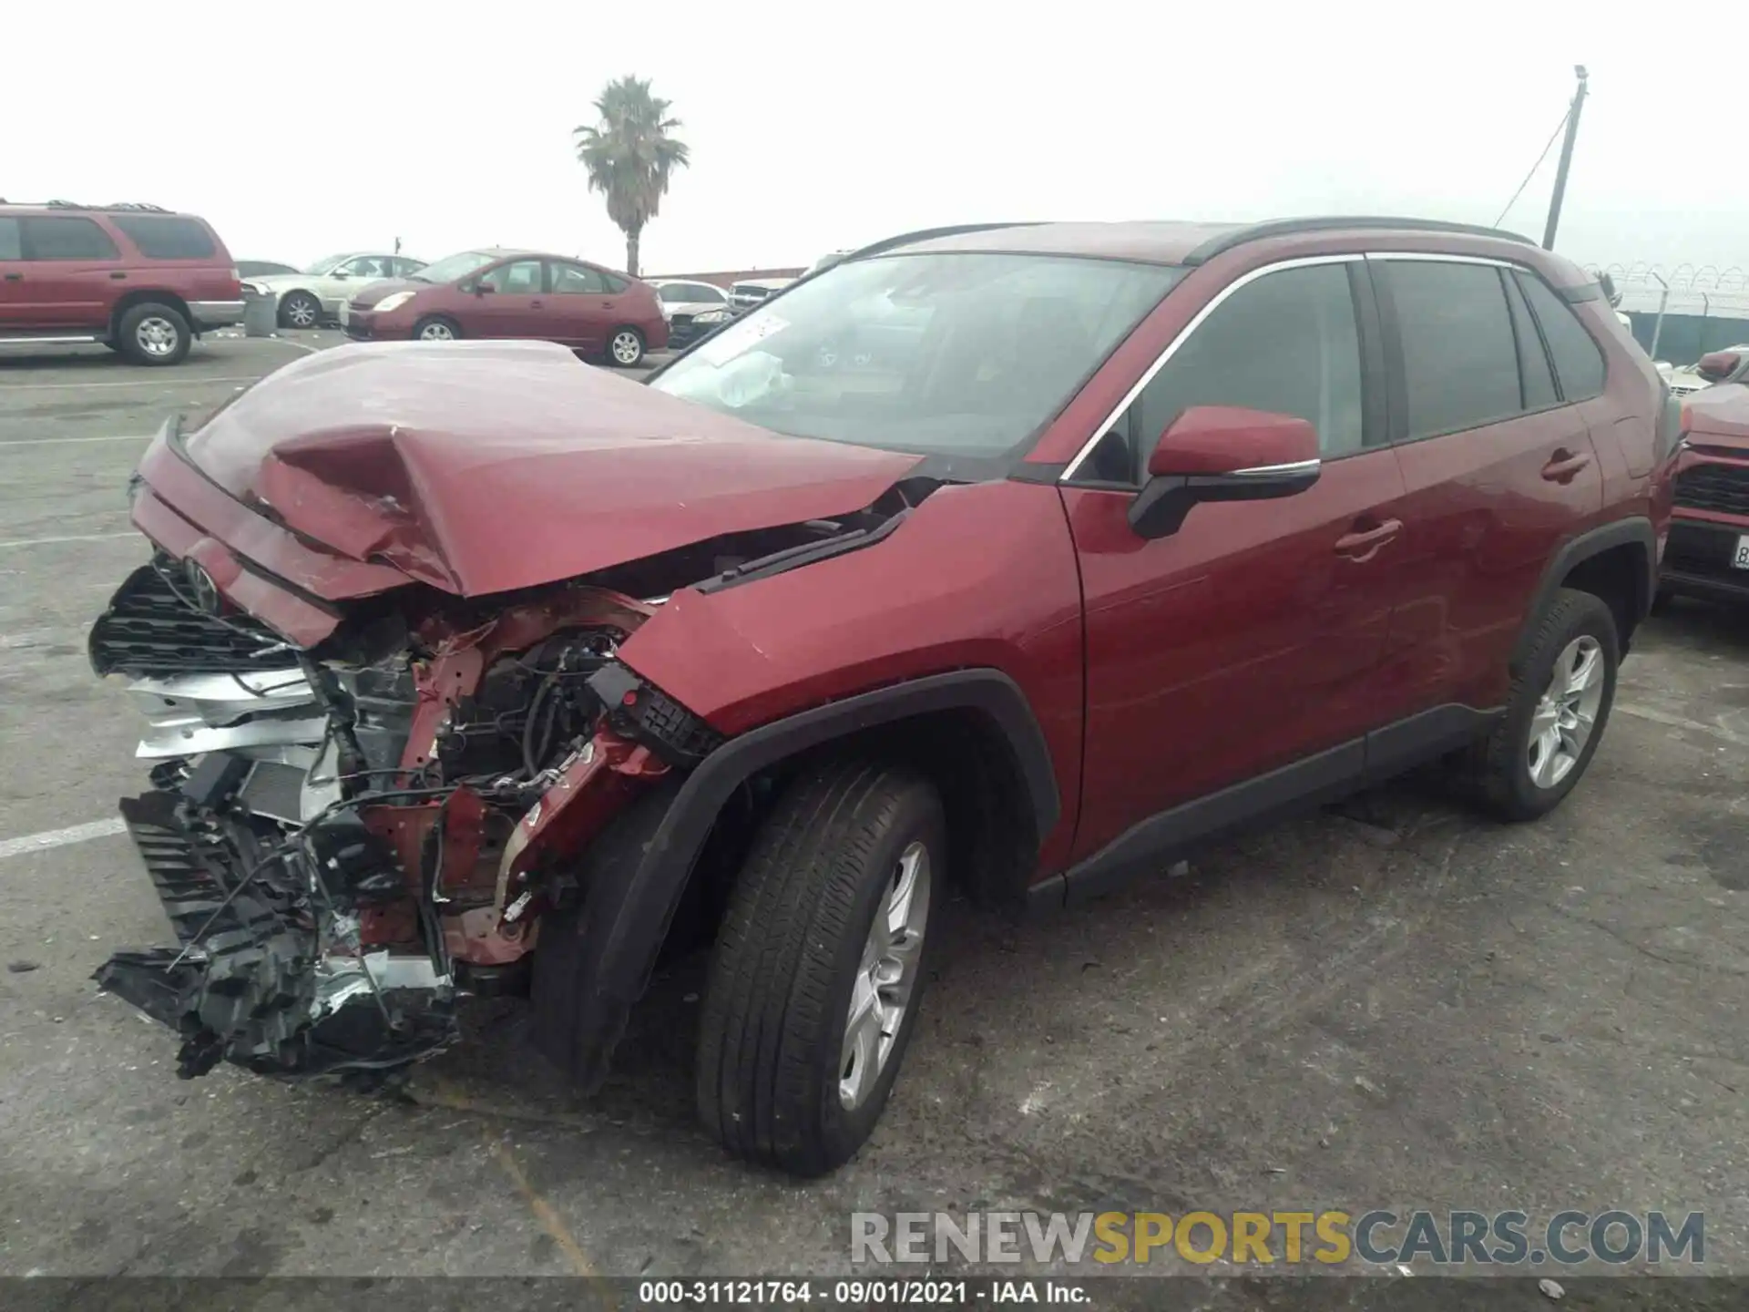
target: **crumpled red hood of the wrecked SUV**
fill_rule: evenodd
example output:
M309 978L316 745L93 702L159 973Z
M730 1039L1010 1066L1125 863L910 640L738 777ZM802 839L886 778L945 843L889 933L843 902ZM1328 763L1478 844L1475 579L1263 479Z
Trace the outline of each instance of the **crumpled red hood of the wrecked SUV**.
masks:
M784 437L535 341L336 346L184 451L306 541L463 597L848 514L918 464Z

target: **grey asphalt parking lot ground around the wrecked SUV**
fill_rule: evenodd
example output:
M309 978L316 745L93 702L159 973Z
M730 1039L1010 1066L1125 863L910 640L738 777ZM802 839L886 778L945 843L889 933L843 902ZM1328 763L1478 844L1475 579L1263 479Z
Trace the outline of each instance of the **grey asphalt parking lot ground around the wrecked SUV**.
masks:
M1646 628L1541 824L1404 784L1056 920L955 908L885 1121L827 1181L694 1127L696 964L588 1102L516 1002L404 1099L175 1079L89 981L168 929L101 826L143 771L84 635L145 555L147 436L336 341L0 353L0 1275L829 1274L854 1211L1296 1207L1705 1211L1707 1268L1749 1275L1749 614L1698 605Z

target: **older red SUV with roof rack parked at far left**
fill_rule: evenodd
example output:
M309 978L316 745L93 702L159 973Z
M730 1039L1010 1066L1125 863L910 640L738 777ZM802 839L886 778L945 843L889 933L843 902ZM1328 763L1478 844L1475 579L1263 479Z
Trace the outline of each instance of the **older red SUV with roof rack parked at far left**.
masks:
M224 241L156 205L0 205L0 345L101 341L177 364L201 332L243 320Z

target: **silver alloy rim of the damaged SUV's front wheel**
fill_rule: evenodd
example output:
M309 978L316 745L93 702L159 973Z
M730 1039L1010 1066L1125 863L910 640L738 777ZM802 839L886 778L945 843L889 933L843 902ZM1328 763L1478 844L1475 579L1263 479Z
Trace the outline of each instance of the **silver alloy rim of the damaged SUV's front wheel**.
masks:
M857 1109L880 1083L916 985L929 925L929 848L915 841L899 854L887 890L874 906L850 987L845 1046L838 1058L838 1100Z

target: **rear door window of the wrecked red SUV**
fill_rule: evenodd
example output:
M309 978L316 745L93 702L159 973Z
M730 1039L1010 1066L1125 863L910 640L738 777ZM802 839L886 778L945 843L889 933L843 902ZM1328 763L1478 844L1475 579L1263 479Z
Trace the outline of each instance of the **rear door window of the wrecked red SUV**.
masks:
M1380 261L1396 304L1410 441L1523 411L1518 345L1494 264Z

